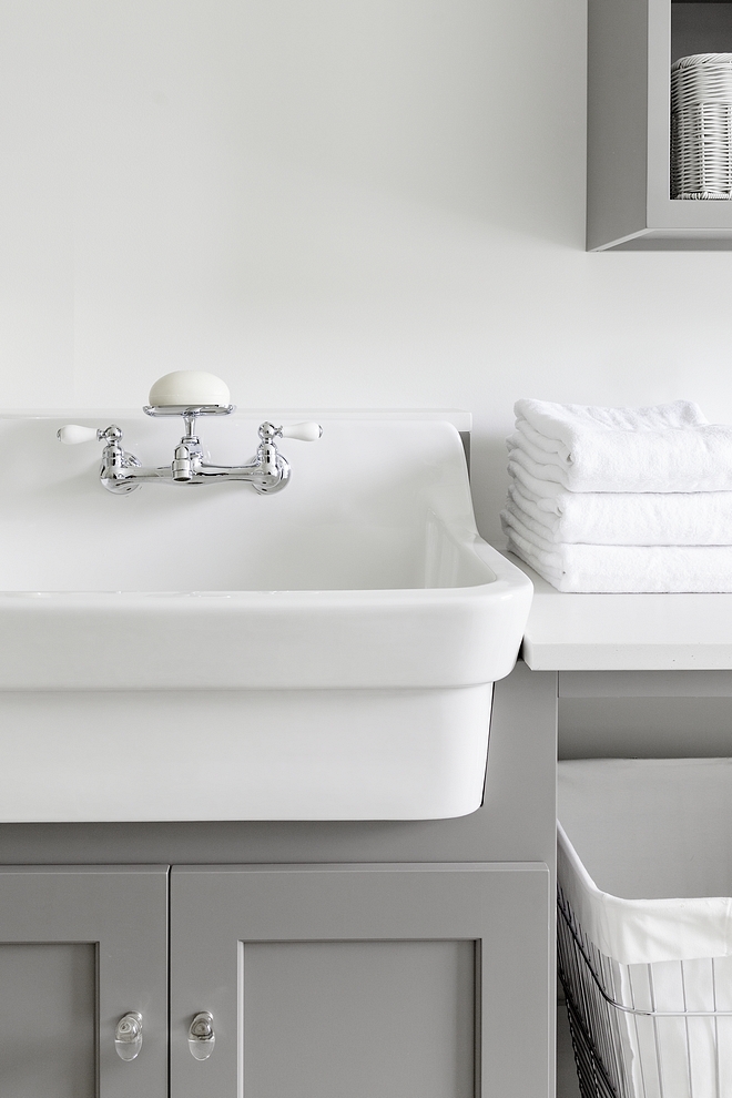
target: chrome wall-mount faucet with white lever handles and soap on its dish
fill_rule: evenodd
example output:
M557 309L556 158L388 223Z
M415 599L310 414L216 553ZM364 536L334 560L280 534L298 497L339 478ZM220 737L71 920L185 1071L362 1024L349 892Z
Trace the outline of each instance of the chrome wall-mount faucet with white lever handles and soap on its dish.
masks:
M281 427L264 423L258 431L256 455L251 461L228 466L205 460L196 419L200 416L228 416L234 411L234 405L228 404L228 389L224 383L213 374L200 370L176 370L160 378L150 390L150 404L143 411L155 417L182 416L185 431L170 465L143 466L133 454L123 449L122 430L115 424L103 430L69 424L59 429L58 438L69 445L94 439L103 443L100 479L108 491L118 495L134 491L143 484L205 485L243 480L264 496L281 491L289 480L289 464L277 449L276 440L297 438L314 443L323 434L316 423Z

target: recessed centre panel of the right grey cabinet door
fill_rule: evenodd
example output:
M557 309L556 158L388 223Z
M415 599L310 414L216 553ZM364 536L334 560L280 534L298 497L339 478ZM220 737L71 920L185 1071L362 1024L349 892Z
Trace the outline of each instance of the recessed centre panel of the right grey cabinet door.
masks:
M242 952L245 1095L472 1098L475 943L250 942Z

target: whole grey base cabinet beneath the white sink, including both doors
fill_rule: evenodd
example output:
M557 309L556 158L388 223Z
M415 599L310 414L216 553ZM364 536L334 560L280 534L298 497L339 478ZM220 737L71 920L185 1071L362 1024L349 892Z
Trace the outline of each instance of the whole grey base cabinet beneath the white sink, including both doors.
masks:
M0 827L2 1098L549 1098L556 705L496 684L456 820Z

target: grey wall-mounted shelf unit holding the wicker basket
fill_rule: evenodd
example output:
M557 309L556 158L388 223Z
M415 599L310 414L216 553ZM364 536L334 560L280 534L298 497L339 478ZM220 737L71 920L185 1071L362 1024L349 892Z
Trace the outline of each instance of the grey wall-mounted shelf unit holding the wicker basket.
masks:
M732 52L732 2L589 0L588 251L730 251L732 201L670 197L670 70Z

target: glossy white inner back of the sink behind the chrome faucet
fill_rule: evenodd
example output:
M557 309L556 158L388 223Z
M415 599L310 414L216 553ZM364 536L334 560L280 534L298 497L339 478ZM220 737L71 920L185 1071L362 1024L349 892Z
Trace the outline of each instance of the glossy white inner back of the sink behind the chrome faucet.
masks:
M116 423L145 464L170 462L177 420L77 414ZM64 418L0 417L0 591L207 591L420 588L480 582L441 543L430 499L449 487L471 522L454 428L445 423L326 423L316 446L284 440L287 491L241 484L145 485L111 496L101 446L60 446ZM217 460L248 460L258 419L202 420ZM420 445L415 445L416 438ZM451 560L451 563L449 561ZM457 571L456 571L457 569Z

